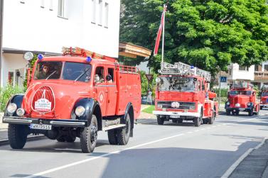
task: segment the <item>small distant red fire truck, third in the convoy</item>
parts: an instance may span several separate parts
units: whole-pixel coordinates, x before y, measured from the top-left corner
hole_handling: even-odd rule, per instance
[[[256,91],[248,82],[235,81],[228,92],[228,101],[225,103],[226,114],[238,115],[245,111],[249,116],[259,114],[259,102],[256,99]]]

